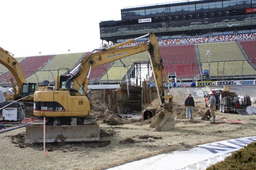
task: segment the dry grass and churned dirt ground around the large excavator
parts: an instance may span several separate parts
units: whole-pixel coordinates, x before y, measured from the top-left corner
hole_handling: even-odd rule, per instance
[[[96,95],[98,94],[98,95]],[[185,118],[183,89],[173,90],[174,129],[151,132],[145,129],[150,121],[122,119],[104,112],[99,91],[94,91],[94,114],[100,124],[99,142],[47,143],[48,157],[43,156],[43,144],[25,143],[26,129],[0,134],[1,169],[106,169],[116,165],[176,150],[188,150],[204,143],[232,138],[256,136],[256,115],[223,114],[216,111],[218,121],[242,120],[240,124],[210,124],[201,120],[203,98],[195,98],[195,120]],[[113,124],[114,125],[111,125]]]

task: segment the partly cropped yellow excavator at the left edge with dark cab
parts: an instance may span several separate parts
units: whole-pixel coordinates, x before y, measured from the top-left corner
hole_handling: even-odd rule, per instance
[[[33,94],[38,89],[38,84],[28,83],[23,75],[22,69],[20,68],[15,58],[12,56],[10,52],[4,50],[1,47],[0,47],[0,64],[4,65],[10,71],[10,73],[12,73],[18,86],[18,89],[16,89],[13,79],[11,78],[14,94],[5,94],[6,101],[18,100],[18,99],[24,98],[22,99],[23,101],[32,102]]]

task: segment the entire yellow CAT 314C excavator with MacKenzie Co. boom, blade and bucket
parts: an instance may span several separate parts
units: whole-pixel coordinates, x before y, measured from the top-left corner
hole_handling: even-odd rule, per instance
[[[149,36],[149,41],[137,46],[119,48],[135,40]],[[34,115],[38,120],[26,127],[26,142],[43,142],[43,117],[45,123],[45,142],[99,141],[99,124],[91,113],[91,104],[86,96],[89,76],[92,69],[132,54],[148,51],[152,66],[161,112],[150,125],[155,131],[170,130],[175,126],[171,113],[167,112],[165,99],[171,105],[172,96],[165,96],[162,73],[168,79],[159,53],[158,40],[153,33],[130,39],[112,47],[97,49],[84,57],[77,72],[73,75],[58,75],[54,90],[34,93]],[[168,87],[169,88],[169,87]],[[170,107],[169,107],[170,108]]]

